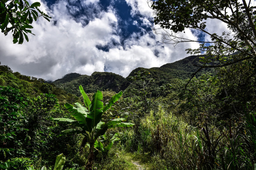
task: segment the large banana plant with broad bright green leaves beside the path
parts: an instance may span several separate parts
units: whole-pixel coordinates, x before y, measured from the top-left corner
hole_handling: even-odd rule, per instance
[[[84,98],[85,107],[78,102],[75,103],[75,106],[69,103],[64,105],[68,111],[72,113],[72,116],[76,120],[69,118],[54,118],[53,120],[56,122],[66,122],[77,127],[66,129],[62,131],[63,133],[79,133],[85,136],[83,142],[88,142],[90,146],[90,152],[87,156],[88,161],[86,164],[86,169],[92,170],[94,159],[93,150],[97,138],[101,135],[104,135],[109,128],[131,127],[134,124],[123,122],[126,121],[125,118],[116,118],[106,123],[101,122],[102,114],[104,114],[108,108],[110,108],[122,96],[122,91],[112,96],[108,104],[104,106],[103,102],[101,101],[103,99],[102,92],[97,90],[97,92],[92,96],[92,101],[90,101],[81,85],[79,86],[79,90]]]

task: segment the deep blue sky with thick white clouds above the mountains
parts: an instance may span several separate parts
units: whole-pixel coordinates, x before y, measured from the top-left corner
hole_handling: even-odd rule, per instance
[[[91,75],[113,72],[123,77],[137,68],[160,67],[189,56],[185,49],[162,43],[153,33],[153,11],[147,0],[30,0],[52,17],[33,22],[29,42],[12,43],[12,34],[0,34],[0,62],[23,75],[56,80],[72,72]],[[215,21],[209,22],[216,25]],[[222,32],[226,25],[209,27]],[[211,30],[209,30],[211,31]],[[186,37],[202,36],[186,29]],[[207,38],[207,37],[204,37]]]

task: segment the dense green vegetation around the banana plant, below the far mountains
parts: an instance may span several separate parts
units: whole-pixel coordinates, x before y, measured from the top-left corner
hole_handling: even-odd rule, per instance
[[[0,168],[53,168],[55,157],[63,153],[64,169],[84,169],[89,148],[94,148],[93,166],[98,169],[136,169],[132,160],[146,169],[253,169],[256,83],[252,61],[206,70],[192,78],[187,89],[182,77],[172,77],[173,72],[160,74],[162,69],[180,69],[184,76],[191,58],[194,56],[160,68],[133,71],[126,78],[129,86],[102,115],[102,122],[123,117],[135,125],[108,129],[89,147],[82,134],[63,133],[80,126],[53,122],[58,117],[71,121],[63,104],[83,103],[83,97],[0,65]],[[73,80],[79,77],[77,74]],[[113,95],[116,92],[103,91],[104,105]],[[94,98],[92,93],[89,98]]]

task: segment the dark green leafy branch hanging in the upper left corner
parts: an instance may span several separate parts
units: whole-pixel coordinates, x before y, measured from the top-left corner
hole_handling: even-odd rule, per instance
[[[27,0],[1,0],[0,2],[0,28],[1,31],[7,35],[12,30],[13,43],[22,44],[24,37],[28,42],[26,33],[31,32],[31,25],[37,18],[43,16],[50,21],[47,14],[42,12],[38,7],[41,4],[34,2],[29,4]],[[33,34],[34,35],[34,34]]]

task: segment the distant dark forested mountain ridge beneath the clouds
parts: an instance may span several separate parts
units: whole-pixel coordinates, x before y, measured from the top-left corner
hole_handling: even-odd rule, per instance
[[[126,78],[111,72],[94,72],[91,76],[69,73],[63,78],[55,80],[53,84],[77,96],[80,95],[79,85],[83,86],[86,93],[107,89],[119,92],[120,90],[125,90],[130,85],[129,77],[135,75],[135,72],[150,72],[151,77],[155,79],[155,84],[161,86],[165,83],[175,83],[178,80],[190,78],[191,74],[198,69],[194,64],[200,64],[198,55],[192,55],[173,63],[167,63],[161,67],[139,67],[134,69]],[[212,69],[202,69],[197,76],[206,72],[212,72]]]

